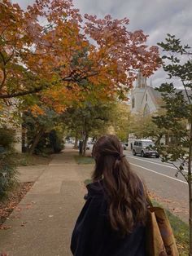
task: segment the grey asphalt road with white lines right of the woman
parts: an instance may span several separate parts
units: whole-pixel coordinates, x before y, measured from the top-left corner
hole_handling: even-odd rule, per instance
[[[124,151],[130,166],[135,170],[149,190],[155,193],[157,199],[174,214],[188,222],[188,185],[181,176],[175,177],[177,169],[160,159],[133,156],[132,152]],[[186,173],[186,170],[185,170]]]

